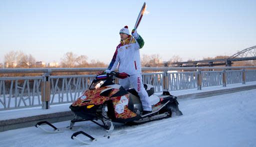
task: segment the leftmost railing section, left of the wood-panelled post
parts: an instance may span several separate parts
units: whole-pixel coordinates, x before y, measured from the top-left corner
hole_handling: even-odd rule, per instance
[[[0,110],[41,106],[42,78],[0,78]]]

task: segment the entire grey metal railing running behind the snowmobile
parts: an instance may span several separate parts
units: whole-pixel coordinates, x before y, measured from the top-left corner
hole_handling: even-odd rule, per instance
[[[203,87],[256,81],[256,70],[250,68],[256,69],[256,67],[142,68],[142,71],[150,72],[142,73],[142,81],[144,84],[153,85],[155,92],[196,88],[200,90]],[[0,69],[0,73],[44,73],[42,76],[36,77],[0,77],[0,110],[37,106],[48,109],[50,105],[72,103],[83,91],[88,89],[95,75],[51,76],[50,74],[54,72],[103,71],[104,69]],[[205,71],[209,69],[218,71]],[[191,71],[177,72],[184,70]]]

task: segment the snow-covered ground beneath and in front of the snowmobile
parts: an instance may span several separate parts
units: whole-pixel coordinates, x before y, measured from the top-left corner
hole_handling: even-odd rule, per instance
[[[93,145],[71,140],[72,131],[47,134],[29,127],[0,132],[0,147],[256,147],[255,94],[254,89],[179,100],[183,116],[137,126],[114,124],[115,131],[128,133]],[[68,123],[54,125],[64,127]],[[90,122],[76,125],[82,125],[79,130],[94,137],[104,134],[102,128]]]

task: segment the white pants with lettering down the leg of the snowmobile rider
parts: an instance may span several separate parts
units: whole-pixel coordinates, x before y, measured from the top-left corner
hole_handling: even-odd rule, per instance
[[[148,94],[146,93],[146,90],[142,83],[142,77],[141,74],[134,74],[130,75],[130,77],[127,77],[125,79],[119,79],[119,84],[125,89],[128,90],[130,87],[130,84],[132,87],[136,90],[138,93],[138,96],[140,98],[143,111],[152,111],[152,107],[148,98]]]

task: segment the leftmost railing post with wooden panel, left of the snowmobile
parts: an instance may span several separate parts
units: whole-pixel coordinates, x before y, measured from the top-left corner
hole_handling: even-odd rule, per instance
[[[43,74],[43,82],[41,83],[41,101],[42,101],[42,109],[49,109],[49,101],[50,101],[50,81],[49,81],[49,73]]]

